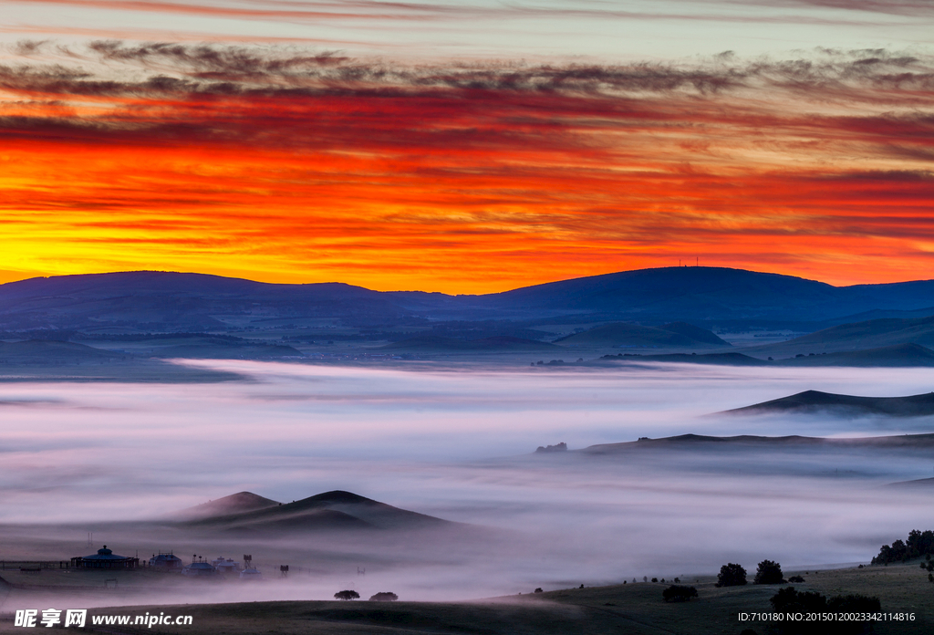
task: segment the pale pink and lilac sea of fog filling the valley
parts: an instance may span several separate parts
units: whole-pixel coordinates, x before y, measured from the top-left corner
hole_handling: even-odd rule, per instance
[[[934,489],[884,487],[934,476],[934,456],[923,451],[530,456],[539,445],[579,449],[688,432],[934,432],[927,417],[710,416],[806,389],[927,392],[930,369],[184,363],[249,379],[0,384],[6,550],[33,536],[50,552],[56,544],[74,551],[93,527],[95,543],[120,553],[237,555],[243,541],[198,543],[179,534],[166,544],[164,536],[107,523],[164,516],[242,490],[294,501],[344,489],[496,531],[479,542],[257,544],[259,553],[278,549],[277,559],[287,553],[293,567],[318,573],[256,587],[249,597],[325,599],[335,586],[356,585],[361,594],[452,600],[644,575],[689,578],[728,561],[751,571],[763,558],[786,569],[865,562],[910,529],[934,529]],[[75,555],[86,554],[48,559]],[[365,577],[358,568],[368,568]],[[204,599],[231,599],[218,593]]]

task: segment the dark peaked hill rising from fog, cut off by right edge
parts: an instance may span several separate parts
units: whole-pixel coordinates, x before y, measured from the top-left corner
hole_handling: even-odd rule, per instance
[[[832,413],[843,416],[930,416],[934,415],[934,392],[910,397],[856,397],[805,390],[789,397],[726,412],[732,415]]]

